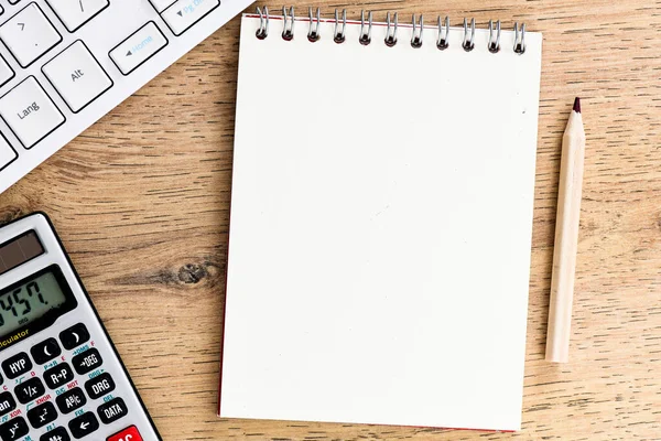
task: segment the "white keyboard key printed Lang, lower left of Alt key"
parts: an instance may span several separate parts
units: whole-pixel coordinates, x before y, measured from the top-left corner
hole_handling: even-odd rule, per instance
[[[33,76],[0,98],[0,116],[25,149],[34,147],[65,121]]]

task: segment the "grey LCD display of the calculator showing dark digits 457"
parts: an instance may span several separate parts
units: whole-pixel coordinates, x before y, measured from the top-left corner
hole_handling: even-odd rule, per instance
[[[0,293],[0,335],[7,335],[41,319],[66,303],[62,287],[52,271],[25,279]]]

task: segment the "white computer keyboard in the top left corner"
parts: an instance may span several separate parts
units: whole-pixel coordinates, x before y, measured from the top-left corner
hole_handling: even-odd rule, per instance
[[[0,0],[0,193],[253,0]]]

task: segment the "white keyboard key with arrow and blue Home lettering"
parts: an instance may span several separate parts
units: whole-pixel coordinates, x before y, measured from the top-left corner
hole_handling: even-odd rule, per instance
[[[167,45],[167,39],[153,21],[121,42],[108,54],[119,71],[128,75]]]

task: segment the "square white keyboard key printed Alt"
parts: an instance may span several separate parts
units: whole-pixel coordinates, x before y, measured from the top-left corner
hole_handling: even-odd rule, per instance
[[[110,77],[80,40],[46,63],[42,72],[74,114],[112,86]]]

